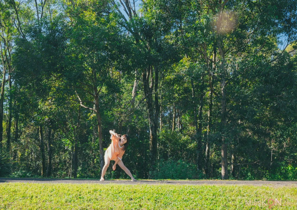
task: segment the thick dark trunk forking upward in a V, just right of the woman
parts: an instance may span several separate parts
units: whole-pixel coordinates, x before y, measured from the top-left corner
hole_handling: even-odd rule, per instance
[[[146,99],[146,107],[149,114],[149,128],[150,128],[150,152],[149,152],[149,163],[150,171],[149,177],[152,173],[154,163],[157,155],[157,128],[158,128],[158,118],[159,118],[159,100],[158,100],[158,68],[154,67],[155,78],[153,81],[153,67],[149,67],[146,71],[142,73],[143,80],[143,91]],[[150,77],[151,76],[151,77]],[[149,84],[149,79],[151,79],[151,84]],[[155,90],[155,113],[153,108],[152,100],[152,90]]]

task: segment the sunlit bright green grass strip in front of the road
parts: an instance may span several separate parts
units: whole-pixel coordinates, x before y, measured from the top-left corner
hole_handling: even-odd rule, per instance
[[[268,209],[245,204],[262,198],[282,199],[272,209],[297,209],[296,187],[0,184],[0,209]]]

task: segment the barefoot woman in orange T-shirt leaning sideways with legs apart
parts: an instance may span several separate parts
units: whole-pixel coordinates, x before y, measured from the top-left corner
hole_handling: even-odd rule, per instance
[[[132,181],[136,181],[136,179],[134,179],[131,172],[129,171],[128,168],[126,168],[126,166],[122,161],[123,154],[129,144],[129,136],[125,134],[120,137],[120,135],[118,135],[112,130],[110,130],[109,132],[111,134],[110,138],[112,142],[107,148],[107,150],[105,151],[105,156],[104,156],[105,165],[102,169],[102,175],[101,175],[100,181],[104,181],[104,174],[109,166],[110,160],[115,161],[112,167],[113,170],[116,170],[116,164],[118,164],[121,167],[121,169],[123,169],[131,177]]]

